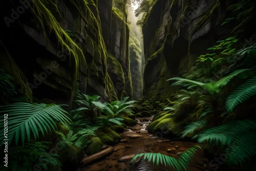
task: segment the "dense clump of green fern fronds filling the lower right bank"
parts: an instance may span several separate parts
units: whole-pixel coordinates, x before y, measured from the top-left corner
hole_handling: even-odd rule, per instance
[[[193,139],[200,143],[220,145],[225,149],[226,163],[243,165],[256,154],[256,120],[234,120],[226,124],[208,128],[205,120],[188,124],[182,137],[204,127],[204,131]],[[208,128],[208,129],[207,129]]]

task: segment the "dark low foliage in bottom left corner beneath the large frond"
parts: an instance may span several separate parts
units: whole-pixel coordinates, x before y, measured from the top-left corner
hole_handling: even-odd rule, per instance
[[[58,155],[47,153],[50,142],[25,143],[24,146],[11,147],[8,152],[9,164],[1,170],[33,170],[40,168],[43,170],[57,170],[61,163]],[[3,166],[3,165],[2,165]]]

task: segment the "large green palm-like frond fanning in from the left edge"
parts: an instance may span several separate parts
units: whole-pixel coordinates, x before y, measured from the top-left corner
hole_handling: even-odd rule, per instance
[[[48,130],[55,130],[55,121],[61,122],[66,127],[68,127],[67,123],[72,122],[70,115],[57,104],[18,102],[0,106],[0,111],[2,118],[5,113],[8,114],[9,144],[14,137],[16,144],[20,137],[24,144],[26,136],[28,141],[30,140],[31,131],[34,138],[39,138],[38,130],[42,135],[48,133]],[[4,128],[4,122],[0,125]],[[3,141],[4,130],[1,131],[0,141]]]

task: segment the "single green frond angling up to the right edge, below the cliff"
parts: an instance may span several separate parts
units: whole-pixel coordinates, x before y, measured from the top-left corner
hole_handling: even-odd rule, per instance
[[[241,104],[243,101],[248,100],[250,97],[256,94],[256,76],[248,79],[241,86],[236,88],[226,100],[227,112],[233,112],[234,108]]]

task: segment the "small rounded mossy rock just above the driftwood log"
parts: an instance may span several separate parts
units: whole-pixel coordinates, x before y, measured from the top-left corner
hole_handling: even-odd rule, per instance
[[[101,146],[103,145],[101,139],[99,137],[92,137],[90,139],[91,144],[86,147],[86,154],[93,155],[101,151]]]

